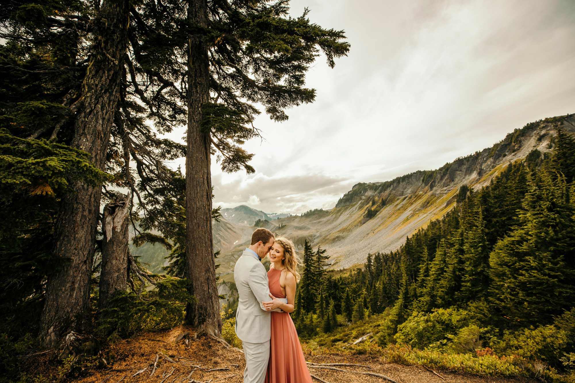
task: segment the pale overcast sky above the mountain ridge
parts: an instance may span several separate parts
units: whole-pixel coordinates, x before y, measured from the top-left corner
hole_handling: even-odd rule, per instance
[[[575,113],[575,1],[295,0],[351,49],[307,76],[313,104],[255,121],[256,173],[212,166],[214,204],[329,209],[357,182],[431,170],[540,118]]]

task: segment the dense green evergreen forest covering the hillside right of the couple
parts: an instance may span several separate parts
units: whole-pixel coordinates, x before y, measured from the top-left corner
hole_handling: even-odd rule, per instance
[[[368,206],[380,203],[373,198]],[[531,151],[481,189],[460,187],[455,208],[397,251],[370,254],[343,273],[326,271],[325,259],[325,250],[306,242],[293,314],[298,334],[318,350],[343,350],[369,333],[354,352],[454,369],[473,358],[446,355],[489,355],[499,373],[515,357],[535,376],[569,376],[575,140],[558,129],[551,152]],[[527,360],[536,362],[526,367]],[[462,370],[486,368],[476,367]]]

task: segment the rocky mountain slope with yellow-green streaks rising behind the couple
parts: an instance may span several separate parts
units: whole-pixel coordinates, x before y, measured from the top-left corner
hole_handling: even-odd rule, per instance
[[[549,152],[558,127],[575,133],[575,116],[531,122],[492,147],[446,163],[437,170],[416,171],[386,182],[358,183],[331,210],[269,220],[260,225],[292,238],[298,250],[305,240],[327,249],[331,268],[350,267],[364,262],[369,253],[396,250],[406,236],[443,216],[455,205],[459,187],[481,188],[505,166],[525,158],[531,151]],[[238,246],[220,256],[221,280],[233,280],[229,273],[246,240],[239,240]]]

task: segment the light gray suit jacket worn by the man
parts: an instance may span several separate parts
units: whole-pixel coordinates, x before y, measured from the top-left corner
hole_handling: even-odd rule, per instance
[[[233,268],[239,302],[236,312],[236,335],[243,342],[263,343],[271,338],[271,312],[262,302],[269,302],[270,288],[262,262],[244,251]],[[275,309],[274,311],[281,311]]]

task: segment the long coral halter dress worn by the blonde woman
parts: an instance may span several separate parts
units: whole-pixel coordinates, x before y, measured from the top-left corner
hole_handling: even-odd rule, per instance
[[[277,298],[286,297],[279,285],[281,273],[275,269],[267,272],[270,293]],[[312,383],[296,326],[286,312],[271,313],[270,361],[265,383]]]

